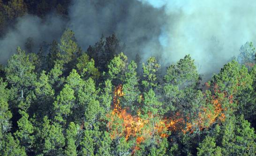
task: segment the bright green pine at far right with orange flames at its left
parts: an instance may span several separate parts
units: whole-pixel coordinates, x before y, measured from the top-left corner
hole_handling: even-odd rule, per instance
[[[213,76],[211,90],[216,96],[230,98],[233,101],[222,104],[226,111],[247,114],[247,107],[254,107],[254,104],[250,104],[253,102],[253,98],[250,97],[253,96],[252,83],[247,68],[233,60],[224,65],[219,74]],[[237,101],[240,103],[236,103]]]

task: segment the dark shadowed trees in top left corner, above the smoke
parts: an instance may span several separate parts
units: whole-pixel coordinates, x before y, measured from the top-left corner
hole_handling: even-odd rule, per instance
[[[6,34],[17,18],[26,14],[45,17],[53,10],[56,13],[67,15],[70,0],[0,0],[0,36]]]

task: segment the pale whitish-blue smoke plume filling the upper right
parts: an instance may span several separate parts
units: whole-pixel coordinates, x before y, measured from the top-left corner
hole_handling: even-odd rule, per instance
[[[255,0],[140,0],[164,8],[168,18],[159,37],[165,63],[190,54],[200,73],[218,72],[241,45],[256,43]]]

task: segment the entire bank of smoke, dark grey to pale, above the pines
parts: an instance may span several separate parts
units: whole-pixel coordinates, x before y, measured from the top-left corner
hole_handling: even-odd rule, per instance
[[[218,72],[241,45],[255,43],[254,0],[72,0],[68,20],[50,14],[45,20],[25,15],[0,40],[0,62],[17,46],[34,39],[34,52],[45,41],[59,39],[65,28],[75,32],[86,50],[103,34],[115,33],[125,54],[145,61],[156,56],[163,66],[190,54],[201,74]]]

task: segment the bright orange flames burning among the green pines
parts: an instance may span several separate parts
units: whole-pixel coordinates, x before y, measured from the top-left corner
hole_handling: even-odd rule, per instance
[[[111,120],[108,123],[111,129],[111,138],[124,136],[128,140],[131,137],[135,137],[137,144],[140,144],[152,135],[150,130],[143,128],[149,123],[149,119],[141,119],[138,115],[140,112],[132,116],[127,112],[127,109],[122,109],[120,107],[120,98],[123,96],[125,96],[125,93],[123,93],[122,85],[120,84],[114,89],[113,111],[111,112]],[[143,99],[142,95],[140,97]],[[231,103],[232,96],[229,99]],[[210,104],[214,107],[214,111],[203,108],[203,111],[198,114],[198,119],[193,122],[189,122],[189,118],[182,116],[181,112],[176,112],[172,117],[161,119],[155,126],[155,132],[161,137],[168,137],[167,131],[182,132],[184,134],[193,133],[196,127],[199,127],[199,130],[203,130],[204,128],[209,128],[216,119],[223,121],[225,115],[221,107],[221,99],[212,96]],[[117,119],[120,119],[120,122]]]

